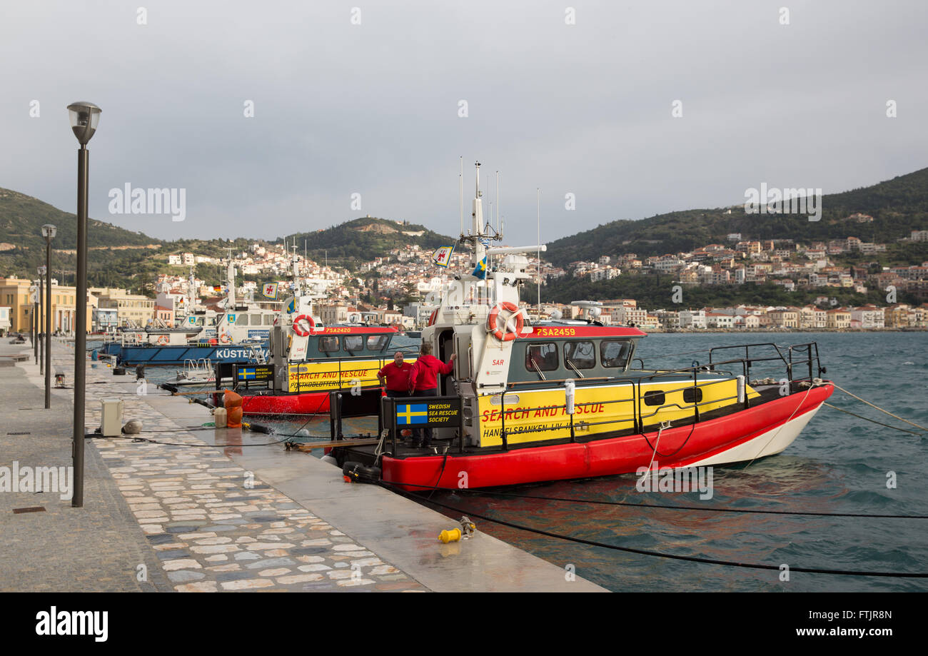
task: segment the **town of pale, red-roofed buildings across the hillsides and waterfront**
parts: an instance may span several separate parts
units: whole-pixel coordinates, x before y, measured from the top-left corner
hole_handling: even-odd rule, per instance
[[[872,217],[856,214],[858,223]],[[928,241],[928,230],[914,230],[903,241]],[[292,248],[292,247],[291,247]],[[529,257],[528,273],[547,286],[564,277],[588,277],[592,282],[624,275],[670,275],[679,289],[687,286],[747,285],[773,282],[784,289],[820,289],[815,302],[801,306],[739,304],[733,307],[686,307],[679,302],[666,308],[639,307],[635,299],[584,299],[602,302],[598,320],[603,324],[636,326],[643,330],[847,330],[928,328],[928,262],[908,266],[878,263],[836,264],[846,254],[870,255],[886,250],[885,244],[856,237],[800,244],[792,239],[751,240],[739,233],[728,235],[728,244],[706,244],[689,252],[667,253],[640,259],[635,253],[603,255],[596,262],[574,262],[567,270]],[[405,330],[423,328],[437,298],[454,272],[468,266],[468,256],[453,251],[447,266],[434,262],[434,253],[418,245],[406,245],[375,257],[349,271],[304,257],[285,245],[254,243],[248,251],[230,252],[238,277],[235,295],[251,307],[277,310],[293,284],[294,263],[302,283],[316,289],[320,302],[316,315],[323,324],[357,323],[386,325]],[[208,284],[193,275],[199,264],[226,265],[228,260],[192,252],[166,256],[165,269],[151,281],[154,296],[128,289],[90,288],[86,330],[111,332],[117,328],[174,327],[185,315],[225,307],[228,289]],[[443,263],[444,264],[444,263]],[[492,265],[492,264],[491,264]],[[186,267],[189,275],[180,273]],[[249,279],[250,278],[250,279]],[[268,288],[267,284],[271,287]],[[74,287],[51,277],[52,329],[65,334],[74,330]],[[36,281],[0,277],[0,331],[32,329]],[[267,293],[273,289],[274,293]],[[839,306],[830,289],[886,290],[885,304]],[[895,302],[896,293],[907,292],[917,303]],[[529,295],[531,297],[531,295]],[[580,300],[580,299],[577,299]],[[45,299],[43,299],[45,301]],[[530,315],[560,313],[574,318],[578,308],[563,303],[523,302]]]

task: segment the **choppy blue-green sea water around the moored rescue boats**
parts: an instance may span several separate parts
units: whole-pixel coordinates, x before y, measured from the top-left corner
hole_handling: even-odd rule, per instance
[[[414,343],[413,340],[407,340]],[[871,403],[928,427],[928,333],[651,334],[638,356],[646,367],[708,362],[715,346],[818,342],[823,376]],[[690,352],[698,353],[690,353]],[[672,355],[678,354],[678,355]],[[802,359],[803,356],[798,356]],[[170,369],[171,374],[175,368]],[[782,367],[756,366],[751,378],[779,379]],[[797,376],[803,374],[797,373]],[[153,367],[148,377],[157,379]],[[829,403],[883,423],[920,431],[835,391]],[[274,421],[284,434],[326,437],[328,416]],[[376,431],[365,422],[346,427]],[[348,432],[346,430],[346,432]],[[895,479],[895,486],[887,482]],[[697,510],[628,508],[589,501],[699,508],[760,508],[928,516],[928,434],[913,435],[823,406],[779,456],[750,465],[715,467],[713,498],[698,493],[641,493],[634,474],[523,485],[492,491],[420,495],[460,508],[438,508],[449,518],[480,514],[514,524],[651,552],[790,568],[863,572],[928,572],[928,520],[809,517]],[[502,494],[505,493],[505,494]],[[557,496],[571,501],[511,495]],[[473,519],[473,518],[471,518]],[[928,580],[762,571],[670,560],[591,547],[475,519],[492,534],[613,591],[928,591]],[[454,521],[449,519],[448,528]],[[476,539],[479,539],[476,538]],[[467,548],[467,543],[461,548]],[[513,572],[518,575],[518,572]]]

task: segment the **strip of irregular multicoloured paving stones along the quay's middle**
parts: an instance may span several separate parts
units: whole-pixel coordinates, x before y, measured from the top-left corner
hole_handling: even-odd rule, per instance
[[[87,426],[99,425],[100,399],[118,397],[125,418],[141,419],[144,437],[178,445],[108,438],[88,440],[87,450],[102,456],[175,590],[426,589],[115,378],[102,365],[88,369]]]

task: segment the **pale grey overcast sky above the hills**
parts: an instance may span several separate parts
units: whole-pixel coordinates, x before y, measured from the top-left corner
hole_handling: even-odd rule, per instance
[[[103,109],[90,215],[167,239],[367,213],[456,234],[459,156],[466,207],[479,160],[524,244],[536,187],[548,241],[928,165],[922,0],[137,2],[147,24],[135,3],[4,0],[0,187],[74,211],[75,100]],[[126,183],[186,189],[186,220],[110,213]]]

